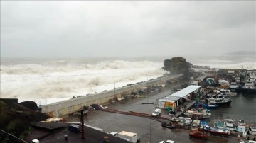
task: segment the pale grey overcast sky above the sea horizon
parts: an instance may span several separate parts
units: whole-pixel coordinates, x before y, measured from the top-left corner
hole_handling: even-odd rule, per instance
[[[255,1],[1,1],[1,57],[256,51]]]

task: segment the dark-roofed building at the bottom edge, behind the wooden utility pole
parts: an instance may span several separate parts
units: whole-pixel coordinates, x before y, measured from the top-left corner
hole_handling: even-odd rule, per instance
[[[34,122],[31,135],[26,137],[27,142],[90,142],[90,143],[130,143],[119,137],[113,137],[106,132],[95,130],[84,126],[84,136],[82,136],[81,126],[59,122]]]

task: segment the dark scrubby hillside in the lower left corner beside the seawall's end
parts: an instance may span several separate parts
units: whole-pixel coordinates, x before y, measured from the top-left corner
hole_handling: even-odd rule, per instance
[[[0,101],[0,113],[1,130],[20,138],[25,137],[32,131],[31,122],[48,118],[47,115],[38,111],[37,105],[33,101],[23,103]],[[0,140],[6,139],[9,139],[9,137],[6,135],[0,136]]]

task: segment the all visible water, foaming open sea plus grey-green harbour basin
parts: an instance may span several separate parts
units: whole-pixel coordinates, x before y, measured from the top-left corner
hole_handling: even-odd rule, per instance
[[[256,58],[247,56],[184,58],[191,64],[210,68],[255,69],[256,66]],[[86,96],[163,76],[166,73],[162,69],[164,59],[171,57],[1,58],[1,98],[45,105]],[[232,112],[230,108],[216,109],[213,116],[256,120],[256,95],[230,98],[233,99]]]

